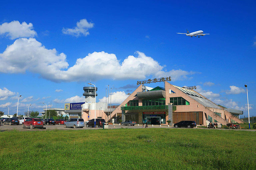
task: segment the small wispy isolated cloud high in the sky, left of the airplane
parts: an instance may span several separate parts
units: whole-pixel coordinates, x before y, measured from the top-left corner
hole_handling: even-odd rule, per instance
[[[62,33],[69,34],[75,37],[79,37],[81,35],[87,36],[89,35],[88,30],[90,28],[93,28],[93,26],[94,26],[93,23],[88,23],[86,19],[82,19],[76,23],[76,27],[74,28],[63,28]]]

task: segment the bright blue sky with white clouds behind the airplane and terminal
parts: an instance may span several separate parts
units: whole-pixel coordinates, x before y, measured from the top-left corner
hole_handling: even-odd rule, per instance
[[[255,1],[1,1],[0,110],[7,113],[9,106],[10,114],[16,113],[18,95],[19,114],[28,104],[41,112],[42,102],[63,108],[83,100],[90,80],[98,87],[97,101],[105,101],[110,85],[112,103],[119,104],[137,80],[171,76],[171,84],[196,85],[213,102],[245,116],[247,84],[250,115],[256,116],[255,6]],[[186,29],[210,35],[176,34]]]

